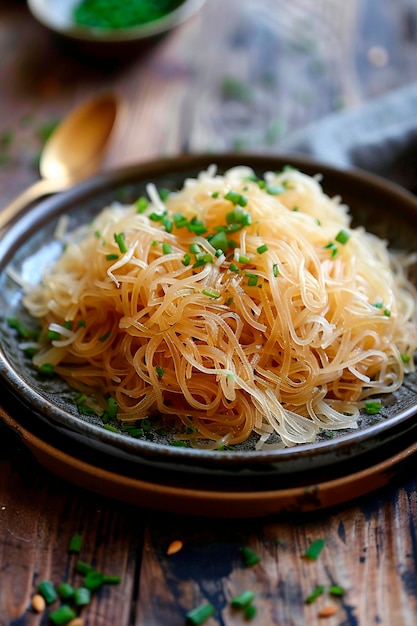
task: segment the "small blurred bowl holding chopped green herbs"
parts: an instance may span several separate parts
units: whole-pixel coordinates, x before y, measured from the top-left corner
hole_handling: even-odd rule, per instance
[[[80,0],[28,0],[33,17],[52,33],[76,43],[82,51],[113,56],[146,46],[166,35],[192,15],[205,0],[183,0],[180,5],[161,18],[128,28],[89,28],[77,25],[72,19]]]

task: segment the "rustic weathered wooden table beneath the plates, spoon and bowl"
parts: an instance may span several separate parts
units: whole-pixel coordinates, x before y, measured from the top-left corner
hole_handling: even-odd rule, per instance
[[[111,88],[125,102],[104,168],[180,152],[274,153],[281,137],[417,77],[413,0],[209,0],[146,53],[119,63],[62,47],[23,2],[0,5],[0,198],[36,180],[51,123]],[[252,589],[253,624],[417,624],[417,474],[382,492],[288,519],[158,513],[69,486],[0,424],[0,625],[46,624],[31,598],[42,579],[75,580],[80,558],[117,574],[83,612],[89,626],[179,626],[211,602],[207,626],[242,624],[230,599]],[[316,539],[316,561],[302,555]],[[181,540],[174,555],[167,548]],[[251,546],[257,565],[242,564]],[[329,585],[344,595],[330,597]],[[315,602],[306,597],[323,585]]]

